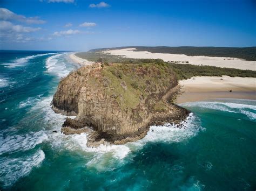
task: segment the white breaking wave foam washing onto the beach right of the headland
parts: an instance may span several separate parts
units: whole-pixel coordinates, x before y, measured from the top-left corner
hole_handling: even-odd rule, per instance
[[[187,102],[181,105],[185,107],[200,107],[213,110],[241,113],[246,115],[250,119],[256,119],[256,105],[228,102]],[[253,110],[253,112],[248,111],[248,109]]]

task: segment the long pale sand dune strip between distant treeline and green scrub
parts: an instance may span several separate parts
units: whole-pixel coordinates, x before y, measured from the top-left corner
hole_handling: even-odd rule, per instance
[[[134,51],[136,48],[123,48],[104,51],[106,54],[120,55],[126,58],[137,59],[163,59],[164,61],[188,61],[192,65],[208,65],[217,67],[256,70],[256,61],[246,61],[238,58],[212,57],[212,56],[187,56],[185,54],[163,54],[147,51]]]

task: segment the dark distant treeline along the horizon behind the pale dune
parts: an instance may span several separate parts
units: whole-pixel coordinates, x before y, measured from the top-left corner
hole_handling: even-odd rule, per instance
[[[103,51],[106,49],[120,49],[120,48],[136,48],[135,51],[148,51],[151,53],[170,53],[170,54],[185,54],[188,56],[217,56],[217,57],[232,57],[244,60],[256,60],[256,47],[194,47],[194,46],[126,46],[116,48],[102,48],[92,49],[92,52]]]

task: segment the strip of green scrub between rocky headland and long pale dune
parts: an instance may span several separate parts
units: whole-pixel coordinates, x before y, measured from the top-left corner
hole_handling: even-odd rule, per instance
[[[102,52],[81,52],[77,53],[77,56],[87,59],[89,61],[102,61],[103,63],[155,63],[157,65],[170,67],[177,75],[179,80],[190,79],[193,76],[239,76],[239,77],[256,77],[256,71],[253,70],[241,70],[235,68],[220,68],[215,66],[199,66],[191,65],[187,63],[174,63],[174,62],[164,62],[161,59],[131,59],[123,58],[121,56],[115,56],[110,54],[104,54]]]

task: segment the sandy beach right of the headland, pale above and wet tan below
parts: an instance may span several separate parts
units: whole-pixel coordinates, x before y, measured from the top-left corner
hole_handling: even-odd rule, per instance
[[[178,104],[216,98],[256,100],[256,79],[253,77],[197,76],[181,80],[179,84]]]

